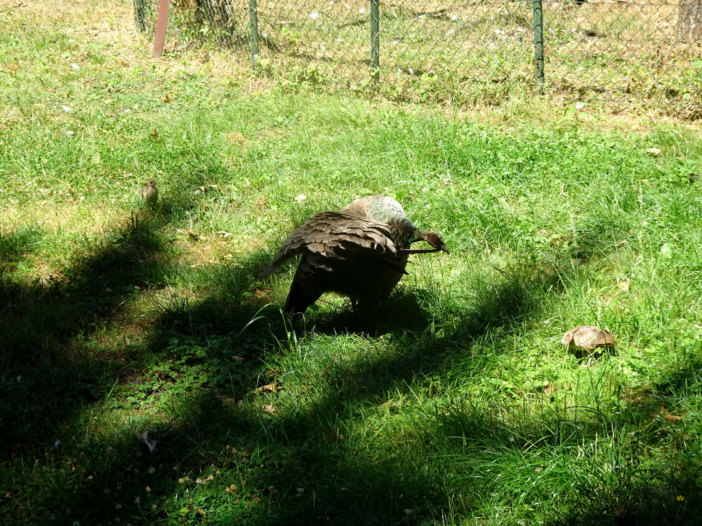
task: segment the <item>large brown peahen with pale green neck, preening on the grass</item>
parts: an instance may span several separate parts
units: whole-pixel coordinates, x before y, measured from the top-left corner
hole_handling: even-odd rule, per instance
[[[426,241],[431,249],[411,249]],[[410,254],[449,253],[441,236],[418,229],[402,205],[388,196],[362,197],[336,211],[312,216],[284,241],[264,271],[270,276],[300,256],[284,312],[299,318],[325,292],[351,300],[352,308],[369,312],[407,274]]]

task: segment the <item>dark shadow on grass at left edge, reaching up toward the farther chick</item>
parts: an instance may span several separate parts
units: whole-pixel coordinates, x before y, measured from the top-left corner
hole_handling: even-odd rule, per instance
[[[173,264],[168,253],[154,224],[133,216],[86,243],[60,277],[27,284],[2,275],[1,449],[53,443],[68,413],[114,384],[119,365],[91,351],[91,334],[120,318],[139,288],[164,283]]]

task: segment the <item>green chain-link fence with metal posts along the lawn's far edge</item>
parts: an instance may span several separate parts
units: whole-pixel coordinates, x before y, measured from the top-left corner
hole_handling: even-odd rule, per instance
[[[152,32],[157,5],[134,1]],[[167,46],[216,42],[351,88],[702,104],[702,0],[687,1],[177,0]]]

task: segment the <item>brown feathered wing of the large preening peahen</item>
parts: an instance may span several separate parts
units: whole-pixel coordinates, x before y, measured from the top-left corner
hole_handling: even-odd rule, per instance
[[[383,222],[341,212],[322,212],[290,234],[264,275],[269,276],[288,259],[303,252],[340,259],[366,251],[379,257],[396,256],[391,236]]]

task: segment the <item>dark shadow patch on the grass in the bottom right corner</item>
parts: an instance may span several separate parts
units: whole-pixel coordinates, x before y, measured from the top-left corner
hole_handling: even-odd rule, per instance
[[[621,441],[628,457],[610,464],[595,476],[583,478],[581,499],[552,525],[692,525],[702,513],[702,446],[691,440],[699,431],[686,418],[702,388],[702,360],[681,358],[680,369],[662,372],[646,389],[626,393],[628,404],[611,422],[612,429],[635,433]],[[642,425],[644,424],[644,425]],[[631,437],[631,438],[630,438]],[[651,443],[660,445],[654,457]],[[654,458],[651,458],[654,457]],[[616,476],[613,476],[616,474]]]

